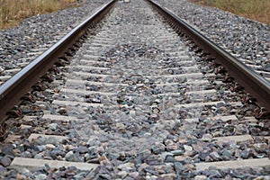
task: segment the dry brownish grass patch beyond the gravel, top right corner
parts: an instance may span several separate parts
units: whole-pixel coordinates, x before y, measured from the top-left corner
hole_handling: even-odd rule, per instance
[[[270,25],[270,0],[190,0]]]

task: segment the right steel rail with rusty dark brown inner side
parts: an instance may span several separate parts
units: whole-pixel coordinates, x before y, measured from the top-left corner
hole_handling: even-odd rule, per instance
[[[204,49],[211,53],[223,67],[227,69],[229,75],[235,78],[239,85],[245,87],[245,91],[257,99],[257,103],[261,107],[265,107],[270,111],[270,83],[263,76],[260,76],[250,67],[234,58],[224,49],[196,31],[191,25],[185,23],[181,18],[173,14],[168,9],[162,7],[160,4],[152,0],[148,0],[160,14],[163,14],[166,19],[174,24],[179,31],[183,31],[189,38]]]

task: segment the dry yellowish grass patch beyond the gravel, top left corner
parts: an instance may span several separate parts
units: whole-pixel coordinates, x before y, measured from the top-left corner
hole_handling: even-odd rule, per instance
[[[37,14],[49,14],[73,6],[76,0],[0,0],[0,30],[17,26]]]

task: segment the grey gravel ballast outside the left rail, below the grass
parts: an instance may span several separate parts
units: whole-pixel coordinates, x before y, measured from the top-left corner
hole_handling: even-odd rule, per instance
[[[86,0],[77,8],[36,15],[18,27],[0,31],[0,77],[12,76],[10,69],[25,67],[105,2]]]

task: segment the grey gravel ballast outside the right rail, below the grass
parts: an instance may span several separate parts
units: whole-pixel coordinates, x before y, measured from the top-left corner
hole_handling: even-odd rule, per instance
[[[186,0],[157,0],[229,53],[270,72],[270,26]],[[258,66],[258,67],[257,67]]]

